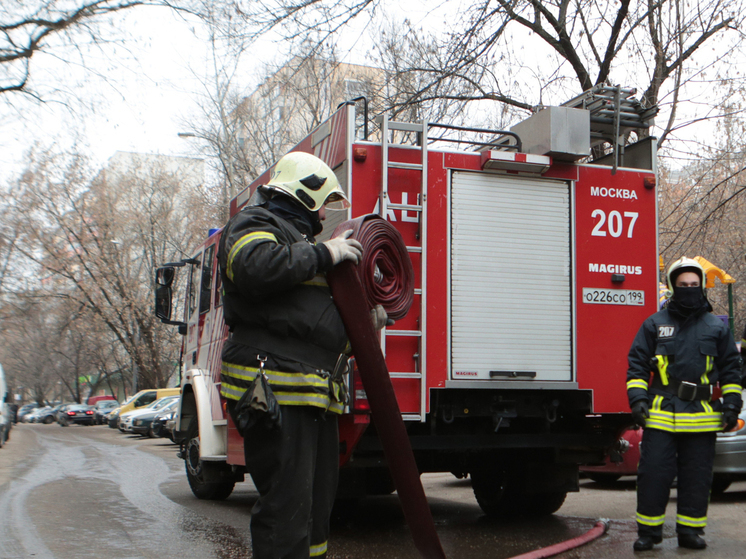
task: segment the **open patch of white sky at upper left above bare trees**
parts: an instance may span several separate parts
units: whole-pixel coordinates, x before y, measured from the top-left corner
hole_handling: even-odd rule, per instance
[[[45,95],[48,101],[43,104],[12,100],[14,110],[4,114],[0,124],[3,171],[17,168],[34,141],[75,141],[100,163],[116,151],[188,151],[177,133],[182,119],[196,110],[204,41],[188,22],[167,10],[132,12],[117,25],[129,30],[131,40],[126,47],[107,48],[104,53],[91,50],[86,55],[88,69],[51,56],[33,61],[32,76],[39,82],[64,80],[68,85],[63,93]],[[107,60],[106,53],[117,61]],[[57,99],[75,103],[65,106]]]

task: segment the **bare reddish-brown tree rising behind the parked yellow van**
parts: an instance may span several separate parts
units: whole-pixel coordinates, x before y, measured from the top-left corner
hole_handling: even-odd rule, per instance
[[[174,161],[159,167],[160,161],[129,156],[94,177],[80,158],[39,154],[15,185],[8,214],[38,296],[67,301],[106,328],[129,355],[141,387],[164,386],[178,352],[175,332],[153,316],[153,270],[189,254],[209,225],[191,195],[198,185],[183,173],[192,162],[177,161],[180,174]]]

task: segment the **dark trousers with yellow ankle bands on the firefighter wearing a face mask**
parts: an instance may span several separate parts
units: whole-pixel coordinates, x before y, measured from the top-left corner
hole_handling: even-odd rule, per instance
[[[637,468],[637,533],[660,537],[671,484],[676,484],[676,532],[701,534],[707,525],[716,433],[645,429]]]

